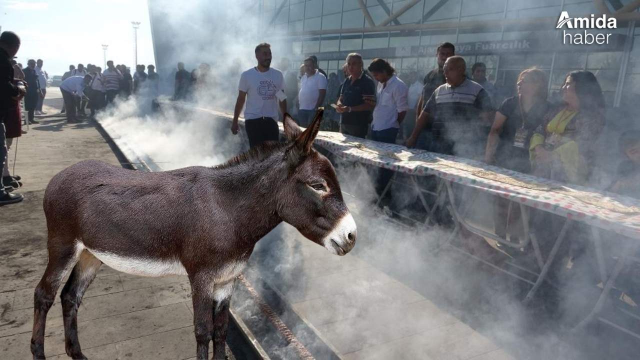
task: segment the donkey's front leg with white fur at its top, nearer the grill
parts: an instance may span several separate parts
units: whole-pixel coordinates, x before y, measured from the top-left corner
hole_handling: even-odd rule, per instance
[[[235,280],[214,287],[213,309],[213,357],[215,360],[225,360],[227,345],[227,329],[229,325],[229,304],[234,292]]]

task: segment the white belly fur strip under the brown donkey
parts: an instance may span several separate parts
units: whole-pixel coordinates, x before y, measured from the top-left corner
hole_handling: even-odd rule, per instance
[[[126,274],[140,276],[165,276],[165,275],[187,275],[182,263],[175,259],[173,261],[158,259],[131,258],[112,254],[110,252],[102,252],[86,248],[102,263]]]

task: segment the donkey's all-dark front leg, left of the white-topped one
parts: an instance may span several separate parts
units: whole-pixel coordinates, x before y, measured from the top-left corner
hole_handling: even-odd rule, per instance
[[[196,359],[207,359],[213,333],[213,281],[205,278],[191,279],[193,297],[193,325],[196,335]]]

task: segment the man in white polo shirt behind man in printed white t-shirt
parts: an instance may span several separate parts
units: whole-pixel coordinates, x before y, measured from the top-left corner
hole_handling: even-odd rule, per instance
[[[313,120],[318,106],[324,101],[326,95],[326,77],[316,69],[312,58],[305,59],[305,74],[300,83],[300,93],[298,93],[298,124],[308,127]]]

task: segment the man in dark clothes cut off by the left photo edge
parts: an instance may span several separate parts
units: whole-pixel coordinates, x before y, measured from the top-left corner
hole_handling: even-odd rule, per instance
[[[4,117],[7,117],[12,106],[13,97],[26,94],[24,86],[13,84],[13,65],[11,60],[20,49],[20,38],[12,31],[4,31],[0,35],[0,168],[7,161],[6,142],[4,138]],[[22,201],[17,193],[7,193],[0,177],[0,206]]]

